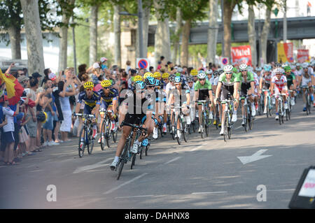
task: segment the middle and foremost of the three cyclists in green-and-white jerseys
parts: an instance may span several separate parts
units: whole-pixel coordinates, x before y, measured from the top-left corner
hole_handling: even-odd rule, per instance
[[[234,107],[234,112],[232,115],[232,122],[237,121],[237,107],[239,106],[237,101],[239,98],[239,75],[236,73],[232,72],[233,66],[232,65],[226,65],[223,68],[223,73],[221,73],[219,80],[218,80],[218,86],[216,87],[216,99],[214,99],[214,104],[216,105],[218,101],[219,94],[221,92],[221,87],[222,87],[222,92],[221,92],[221,101],[222,101],[222,109],[225,110],[225,103],[224,100],[228,99],[228,92],[233,96],[235,99],[235,107]],[[219,71],[221,72],[221,71]],[[220,135],[223,136],[224,134],[224,122],[225,122],[225,116],[224,113],[222,113],[221,116],[221,131]]]

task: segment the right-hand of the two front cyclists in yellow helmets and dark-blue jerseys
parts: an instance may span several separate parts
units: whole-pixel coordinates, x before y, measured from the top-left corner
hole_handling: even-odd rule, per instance
[[[117,89],[113,88],[113,85],[111,84],[110,80],[103,80],[101,82],[101,86],[103,89],[99,89],[97,93],[101,96],[101,106],[100,108],[103,110],[111,110],[112,113],[109,113],[110,119],[113,121],[113,126],[111,127],[111,130],[116,130],[116,123],[118,122],[118,96],[119,93]],[[113,115],[112,115],[113,114]],[[102,119],[104,118],[104,115],[101,115]],[[115,120],[114,120],[115,119]],[[99,123],[99,129],[101,129],[102,122]],[[104,140],[104,139],[103,139]],[[101,143],[101,138],[99,138],[98,143]]]

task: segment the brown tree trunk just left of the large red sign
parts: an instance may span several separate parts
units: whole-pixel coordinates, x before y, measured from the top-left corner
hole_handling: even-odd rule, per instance
[[[222,0],[223,1],[223,16],[224,16],[224,57],[231,58],[231,22],[232,13],[235,8],[235,1]]]

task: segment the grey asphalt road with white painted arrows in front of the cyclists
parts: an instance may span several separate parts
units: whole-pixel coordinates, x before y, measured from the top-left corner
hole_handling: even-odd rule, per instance
[[[298,100],[281,126],[274,115],[258,116],[245,132],[238,120],[227,143],[214,128],[182,145],[154,141],[120,180],[109,168],[116,145],[79,158],[72,138],[0,166],[0,208],[288,208],[304,168],[315,164],[315,109],[307,116]]]

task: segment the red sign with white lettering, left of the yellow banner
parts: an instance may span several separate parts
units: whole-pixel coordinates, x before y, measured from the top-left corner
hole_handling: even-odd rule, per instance
[[[251,46],[240,45],[231,48],[232,63],[247,64],[251,66]]]

